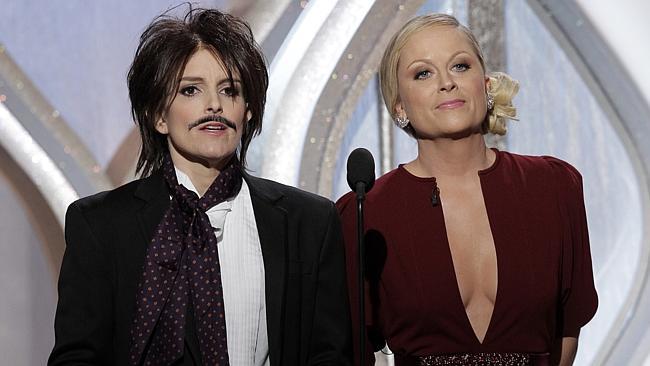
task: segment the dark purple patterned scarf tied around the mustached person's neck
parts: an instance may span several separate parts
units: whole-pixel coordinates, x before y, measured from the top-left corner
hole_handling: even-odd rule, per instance
[[[172,199],[147,248],[131,327],[131,364],[176,362],[183,355],[190,307],[203,363],[228,365],[221,266],[206,211],[239,192],[239,162],[233,157],[201,198],[178,184],[169,155],[162,169]]]

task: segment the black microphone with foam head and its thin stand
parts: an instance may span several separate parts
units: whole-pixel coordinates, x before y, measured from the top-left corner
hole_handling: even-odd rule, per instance
[[[348,157],[348,184],[357,193],[357,293],[359,296],[359,365],[366,364],[366,312],[365,312],[365,257],[366,249],[363,230],[363,201],[375,184],[375,159],[364,148],[354,149]]]

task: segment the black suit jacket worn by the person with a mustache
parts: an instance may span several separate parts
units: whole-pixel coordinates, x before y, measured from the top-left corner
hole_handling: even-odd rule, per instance
[[[247,174],[244,179],[264,259],[271,365],[350,364],[345,259],[332,202]],[[128,364],[146,248],[168,205],[159,173],[70,205],[49,365]],[[200,364],[198,349],[196,339],[186,337],[183,364]]]

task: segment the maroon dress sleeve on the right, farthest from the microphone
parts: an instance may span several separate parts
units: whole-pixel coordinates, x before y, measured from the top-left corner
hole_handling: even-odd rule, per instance
[[[582,176],[570,164],[548,158],[553,168],[562,220],[562,273],[558,331],[562,337],[578,337],[580,328],[596,313],[598,295],[589,249]]]

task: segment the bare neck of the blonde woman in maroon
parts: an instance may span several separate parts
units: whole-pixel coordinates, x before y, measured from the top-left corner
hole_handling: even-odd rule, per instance
[[[481,134],[461,139],[421,139],[417,158],[406,168],[422,177],[462,177],[487,169],[495,159],[496,154],[487,148]]]

